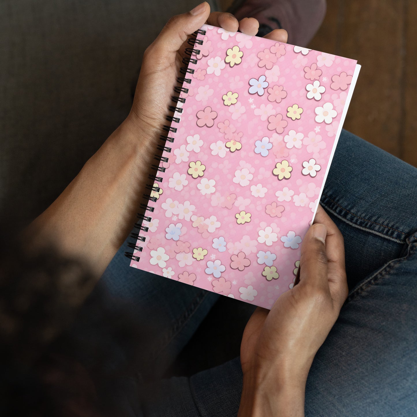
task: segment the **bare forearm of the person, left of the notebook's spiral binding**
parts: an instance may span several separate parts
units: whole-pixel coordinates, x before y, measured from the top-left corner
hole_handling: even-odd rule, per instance
[[[146,130],[149,132],[149,129]],[[101,276],[132,228],[155,139],[125,121],[27,230],[32,247],[52,244]]]

